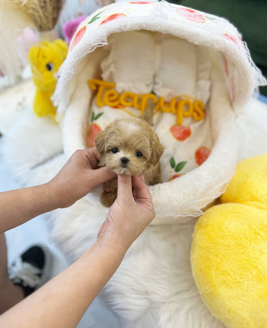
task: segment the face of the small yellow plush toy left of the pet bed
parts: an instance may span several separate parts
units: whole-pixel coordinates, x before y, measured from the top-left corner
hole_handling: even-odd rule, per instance
[[[29,51],[29,61],[36,87],[44,92],[54,92],[58,70],[65,60],[68,46],[63,40],[42,42]]]

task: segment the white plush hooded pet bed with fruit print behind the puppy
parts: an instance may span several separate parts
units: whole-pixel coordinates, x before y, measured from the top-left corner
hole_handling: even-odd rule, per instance
[[[175,114],[158,112],[154,116],[155,130],[166,147],[161,159],[164,183],[149,187],[157,214],[152,224],[199,216],[234,173],[234,115],[254,88],[264,84],[237,30],[224,19],[166,2],[117,3],[87,18],[72,40],[54,96],[59,118],[64,118],[67,156],[88,147],[86,133],[93,111],[94,115],[109,113],[105,120],[105,115],[99,119],[101,128],[125,115],[122,110],[96,105],[95,93],[88,86],[95,78],[115,82],[120,93],[153,91],[166,101],[185,94],[205,105],[203,122],[183,119],[184,126],[196,130],[184,141],[173,142],[166,133],[166,126],[169,130],[175,124]],[[193,143],[211,149],[200,166],[190,153]],[[176,165],[184,156],[187,165],[179,173],[186,174],[167,182],[175,174],[170,159],[173,157]]]

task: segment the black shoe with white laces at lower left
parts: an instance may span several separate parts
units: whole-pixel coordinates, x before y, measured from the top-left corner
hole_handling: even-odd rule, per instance
[[[51,254],[45,246],[32,246],[8,267],[10,279],[23,288],[25,297],[48,281]]]

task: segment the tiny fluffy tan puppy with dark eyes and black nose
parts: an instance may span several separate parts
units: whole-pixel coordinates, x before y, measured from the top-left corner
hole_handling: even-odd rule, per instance
[[[117,119],[97,135],[95,145],[100,154],[99,166],[107,166],[117,174],[144,173],[148,185],[161,182],[159,160],[164,148],[146,121]],[[113,204],[117,189],[117,178],[106,182],[100,199],[104,206]]]

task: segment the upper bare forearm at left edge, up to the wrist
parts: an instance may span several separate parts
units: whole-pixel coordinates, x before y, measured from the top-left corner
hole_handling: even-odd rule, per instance
[[[50,183],[0,194],[0,233],[60,206]]]

